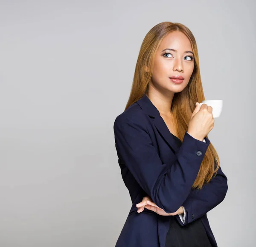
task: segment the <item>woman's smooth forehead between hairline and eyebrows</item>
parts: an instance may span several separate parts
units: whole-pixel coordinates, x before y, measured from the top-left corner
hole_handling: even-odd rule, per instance
[[[172,48],[178,52],[192,51],[192,46],[188,37],[180,31],[173,31],[163,38],[158,51],[162,51],[165,48]]]

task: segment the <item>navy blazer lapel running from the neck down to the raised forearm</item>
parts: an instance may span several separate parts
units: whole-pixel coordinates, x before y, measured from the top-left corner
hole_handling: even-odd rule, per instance
[[[137,100],[137,103],[140,105],[140,108],[148,114],[148,116],[153,117],[153,123],[160,135],[166,140],[169,147],[177,153],[180,147],[177,145],[177,141],[174,139],[172,133],[169,131],[166,123],[161,117],[160,112],[151,100],[146,96],[146,94],[144,94],[141,99]]]

